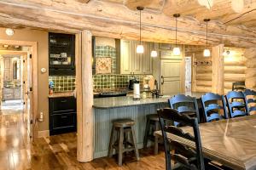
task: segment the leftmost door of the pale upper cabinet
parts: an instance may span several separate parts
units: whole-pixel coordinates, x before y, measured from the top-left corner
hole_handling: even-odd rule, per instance
[[[132,62],[131,41],[121,40],[121,74],[131,74]]]

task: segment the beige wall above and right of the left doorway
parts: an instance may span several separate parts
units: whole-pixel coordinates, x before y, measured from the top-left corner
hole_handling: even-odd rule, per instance
[[[0,28],[0,39],[38,42],[38,113],[44,112],[44,122],[38,122],[38,130],[48,130],[48,32],[15,30],[15,35],[9,37],[5,34],[5,28]],[[40,71],[43,67],[47,69],[44,74]]]

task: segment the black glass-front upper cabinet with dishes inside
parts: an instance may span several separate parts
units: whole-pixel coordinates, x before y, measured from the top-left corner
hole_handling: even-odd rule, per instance
[[[49,32],[49,75],[75,75],[75,36]]]

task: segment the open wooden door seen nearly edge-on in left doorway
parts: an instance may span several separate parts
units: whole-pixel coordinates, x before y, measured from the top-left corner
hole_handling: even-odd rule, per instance
[[[30,54],[24,58],[24,112],[27,117],[27,133],[32,138],[32,59]]]

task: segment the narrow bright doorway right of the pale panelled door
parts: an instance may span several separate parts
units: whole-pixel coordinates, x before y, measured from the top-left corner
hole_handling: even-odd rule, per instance
[[[192,57],[185,57],[185,90],[191,92]]]

